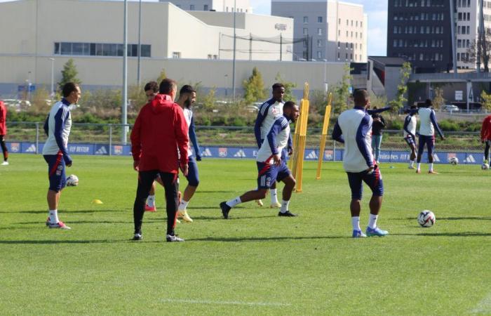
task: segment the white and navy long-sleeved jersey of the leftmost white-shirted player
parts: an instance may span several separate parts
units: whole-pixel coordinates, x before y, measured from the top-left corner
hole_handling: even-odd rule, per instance
[[[58,101],[51,107],[48,117],[47,126],[48,139],[44,143],[43,154],[58,154],[66,150],[68,145],[68,136],[72,129],[72,115],[69,111],[69,105]],[[61,136],[63,148],[58,146],[57,137]]]

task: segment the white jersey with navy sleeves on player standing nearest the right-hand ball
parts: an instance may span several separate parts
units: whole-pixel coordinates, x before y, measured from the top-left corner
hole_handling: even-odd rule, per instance
[[[346,110],[337,118],[344,137],[345,171],[358,173],[373,165],[372,123],[372,116],[357,108]]]

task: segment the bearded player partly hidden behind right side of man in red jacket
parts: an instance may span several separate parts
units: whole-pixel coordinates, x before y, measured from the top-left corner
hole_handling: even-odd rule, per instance
[[[184,85],[179,91],[179,99],[177,100],[177,104],[182,107],[182,111],[184,112],[184,118],[186,119],[188,128],[188,136],[191,143],[193,143],[194,152],[196,154],[196,160],[193,157],[193,152],[191,151],[191,147],[188,150],[188,173],[187,173],[187,187],[184,190],[184,195],[182,196],[182,200],[177,209],[177,217],[182,218],[184,221],[191,223],[193,220],[189,217],[187,213],[187,205],[191,198],[196,192],[196,188],[199,185],[199,173],[198,173],[198,164],[196,161],[201,162],[201,150],[198,145],[198,138],[196,138],[196,130],[194,127],[194,117],[193,112],[191,111],[191,106],[196,102],[196,91],[194,91],[192,86]]]

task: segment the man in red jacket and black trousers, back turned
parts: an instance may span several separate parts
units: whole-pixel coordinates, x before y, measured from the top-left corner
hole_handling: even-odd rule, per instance
[[[133,168],[138,171],[138,187],[133,206],[135,220],[133,240],[142,239],[145,201],[152,183],[159,174],[166,191],[166,240],[184,242],[184,239],[175,235],[174,228],[179,189],[177,174],[180,168],[184,176],[187,176],[189,138],[182,108],[174,103],[176,92],[175,81],[163,79],[159,86],[159,94],[142,107],[131,131]],[[177,150],[180,152],[180,157]]]

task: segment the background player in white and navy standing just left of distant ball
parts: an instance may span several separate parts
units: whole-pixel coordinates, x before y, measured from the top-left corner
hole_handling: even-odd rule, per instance
[[[417,169],[416,173],[421,173],[421,157],[424,152],[424,145],[428,150],[428,162],[429,162],[429,174],[438,174],[433,170],[433,149],[435,147],[435,129],[438,131],[438,135],[442,140],[445,140],[440,126],[436,122],[435,111],[431,109],[433,103],[427,99],[424,105],[418,110],[412,110],[411,112],[417,112],[419,114],[419,143],[417,150]]]

